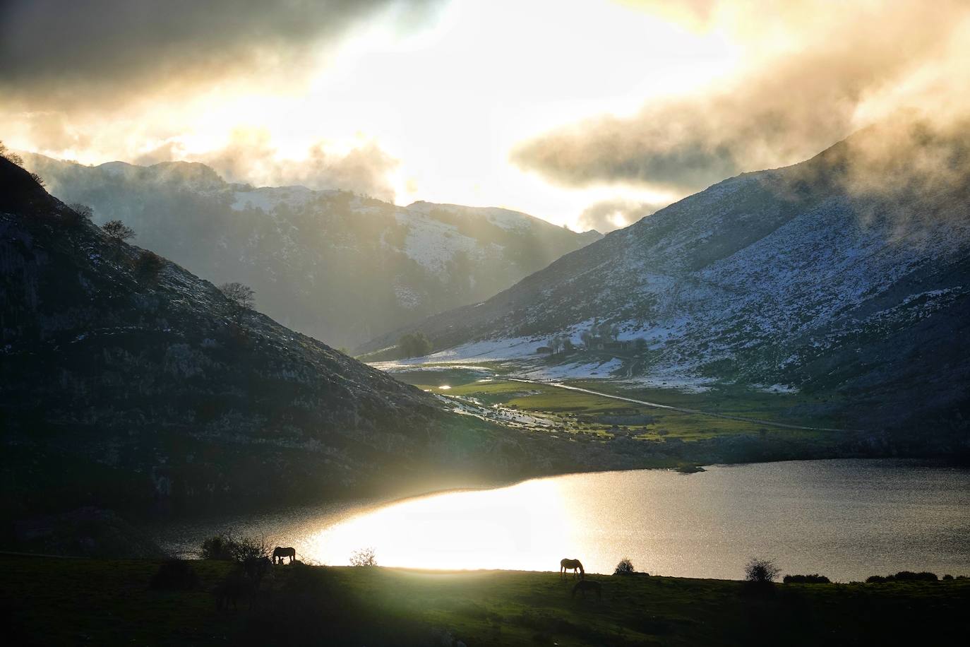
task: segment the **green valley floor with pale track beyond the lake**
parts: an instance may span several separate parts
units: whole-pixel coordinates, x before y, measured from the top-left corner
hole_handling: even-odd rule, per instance
[[[611,455],[635,457],[632,467],[892,455],[880,435],[852,428],[849,403],[836,396],[724,384],[684,390],[609,378],[536,381],[501,362],[380,368],[459,412],[603,445]]]

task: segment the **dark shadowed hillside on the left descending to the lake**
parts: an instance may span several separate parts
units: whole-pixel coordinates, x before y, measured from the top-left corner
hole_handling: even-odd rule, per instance
[[[322,501],[566,469],[113,242],[3,158],[0,414],[11,514]]]

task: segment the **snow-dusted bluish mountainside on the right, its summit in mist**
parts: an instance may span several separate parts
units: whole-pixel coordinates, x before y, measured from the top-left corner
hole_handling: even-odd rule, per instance
[[[461,355],[472,341],[581,344],[598,319],[646,342],[617,374],[834,390],[868,425],[965,420],[968,150],[965,135],[920,124],[860,131],[801,164],[729,178],[414,328]]]

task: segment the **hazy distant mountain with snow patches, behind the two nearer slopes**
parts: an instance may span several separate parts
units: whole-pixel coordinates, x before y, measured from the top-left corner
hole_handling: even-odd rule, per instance
[[[140,245],[193,273],[250,285],[261,310],[335,346],[491,297],[601,238],[516,211],[230,184],[197,163],[23,157],[51,194],[90,206],[96,223],[120,219]]]

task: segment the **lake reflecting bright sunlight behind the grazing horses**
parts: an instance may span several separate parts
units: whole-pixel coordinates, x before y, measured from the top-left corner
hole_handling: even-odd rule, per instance
[[[713,466],[570,474],[493,490],[386,504],[301,508],[170,524],[185,554],[227,527],[347,564],[372,547],[381,566],[556,570],[564,557],[611,573],[741,579],[751,557],[837,581],[897,570],[970,575],[970,470],[904,460]]]

